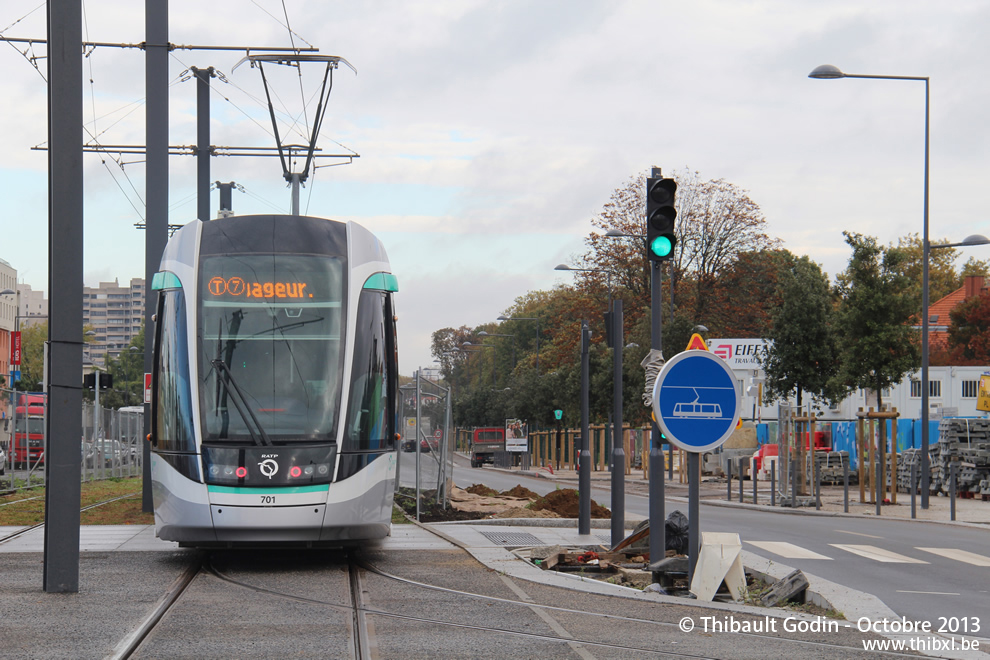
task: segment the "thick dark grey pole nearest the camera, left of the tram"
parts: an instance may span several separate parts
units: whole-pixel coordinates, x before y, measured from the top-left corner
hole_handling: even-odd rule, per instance
[[[82,3],[48,2],[48,448],[43,588],[79,591],[82,439]]]

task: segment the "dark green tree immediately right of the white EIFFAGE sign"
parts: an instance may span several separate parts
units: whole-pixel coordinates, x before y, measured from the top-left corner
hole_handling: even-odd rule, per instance
[[[767,403],[786,401],[794,392],[798,407],[802,392],[818,401],[842,399],[835,391],[839,347],[833,317],[828,277],[808,257],[792,257],[781,277],[780,304],[773,311],[770,345],[761,360]]]

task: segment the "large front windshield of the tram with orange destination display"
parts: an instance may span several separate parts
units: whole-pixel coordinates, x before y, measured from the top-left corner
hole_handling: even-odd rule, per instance
[[[200,406],[206,442],[335,437],[343,370],[343,264],[249,254],[200,264]]]

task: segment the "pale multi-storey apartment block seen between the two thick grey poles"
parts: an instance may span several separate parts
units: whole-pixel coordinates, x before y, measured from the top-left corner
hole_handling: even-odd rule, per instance
[[[132,278],[122,286],[118,280],[83,287],[83,364],[106,366],[108,358],[126,351],[141,332],[144,318],[144,278]]]

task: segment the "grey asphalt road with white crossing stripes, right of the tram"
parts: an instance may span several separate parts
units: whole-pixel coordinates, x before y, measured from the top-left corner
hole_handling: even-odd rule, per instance
[[[462,488],[484,483],[506,490],[522,484],[545,494],[557,487],[549,479],[472,469],[459,457],[455,463],[454,482]],[[607,506],[611,495],[593,486],[592,498]],[[668,499],[667,513],[674,509],[687,513],[687,502]],[[627,486],[626,511],[648,517],[648,497]],[[990,535],[986,529],[702,506],[701,530],[736,532],[746,550],[871,593],[908,619],[930,621],[937,627],[945,618],[947,625],[960,627],[958,632],[990,638],[986,614],[990,612]]]

